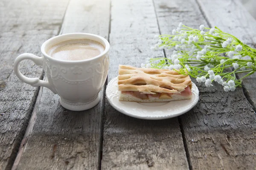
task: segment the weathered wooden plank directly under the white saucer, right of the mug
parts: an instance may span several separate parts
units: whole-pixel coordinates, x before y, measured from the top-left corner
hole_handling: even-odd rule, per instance
[[[146,57],[164,56],[151,51],[159,34],[151,0],[111,2],[111,68],[108,81],[118,75],[118,65],[140,67]],[[188,169],[177,118],[142,120],[119,113],[106,102],[102,169]]]

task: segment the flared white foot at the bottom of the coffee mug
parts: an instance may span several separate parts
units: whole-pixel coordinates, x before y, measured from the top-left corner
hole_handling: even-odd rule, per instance
[[[86,103],[71,103],[71,102],[67,102],[66,100],[62,99],[60,97],[60,103],[61,106],[63,108],[66,108],[70,111],[85,111],[88,110],[90,108],[93,108],[94,106],[96,106],[100,101],[100,97],[99,95],[97,95],[97,97],[95,97],[93,100],[86,102]]]

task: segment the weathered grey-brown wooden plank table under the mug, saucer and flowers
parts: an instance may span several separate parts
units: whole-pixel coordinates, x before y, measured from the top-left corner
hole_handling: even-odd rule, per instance
[[[166,120],[135,119],[105,99],[88,111],[61,107],[47,88],[21,82],[13,72],[24,52],[41,55],[41,44],[70,32],[109,40],[109,82],[118,64],[140,66],[155,34],[170,34],[179,22],[218,26],[252,46],[256,21],[238,0],[1,0],[0,169],[256,169],[256,75],[226,93],[197,83],[200,101],[188,113]],[[43,69],[21,63],[28,77]],[[106,84],[107,84],[106,82]]]

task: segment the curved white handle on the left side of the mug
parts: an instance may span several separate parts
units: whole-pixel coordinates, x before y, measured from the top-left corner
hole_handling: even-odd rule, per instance
[[[35,62],[36,65],[40,65],[40,66],[43,66],[43,62],[44,62],[44,57],[38,57],[34,54],[31,54],[31,53],[24,53],[24,54],[20,54],[16,59],[15,59],[15,62],[14,62],[14,72],[16,74],[16,76],[23,82],[29,84],[29,85],[32,85],[33,87],[36,87],[36,86],[43,86],[43,87],[46,87],[46,88],[49,88],[54,94],[56,94],[55,90],[52,89],[50,83],[48,81],[44,81],[44,80],[41,80],[41,79],[38,79],[37,77],[35,78],[29,78],[29,77],[26,77],[24,76],[21,72],[20,72],[20,69],[19,69],[19,64],[22,60],[24,59],[30,59],[32,60],[33,62]]]

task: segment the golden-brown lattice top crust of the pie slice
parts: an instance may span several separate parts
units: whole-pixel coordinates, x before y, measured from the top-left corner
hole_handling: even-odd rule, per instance
[[[177,71],[119,65],[119,91],[139,91],[141,94],[178,94],[187,86],[191,88],[191,85],[189,75],[178,74]]]

